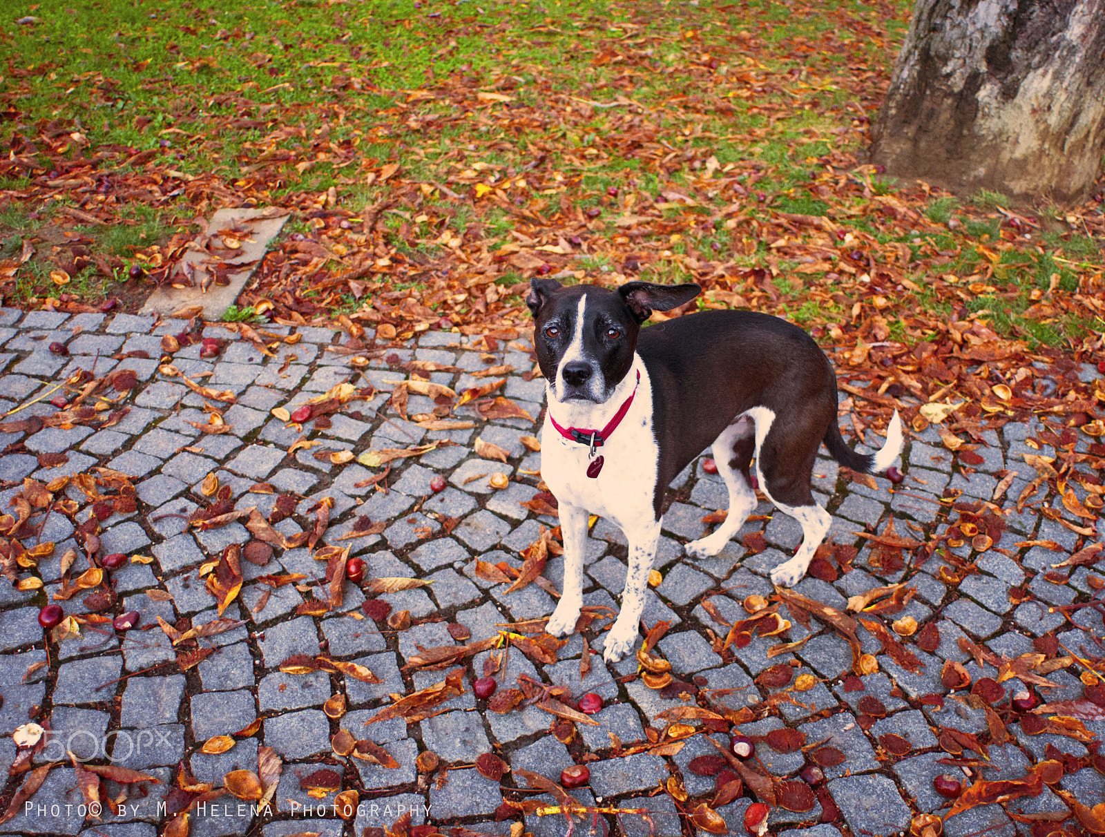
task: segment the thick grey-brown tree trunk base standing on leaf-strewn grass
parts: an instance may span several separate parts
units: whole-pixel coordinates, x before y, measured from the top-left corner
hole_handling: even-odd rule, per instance
[[[917,0],[873,137],[891,174],[1085,199],[1105,151],[1105,0]]]

